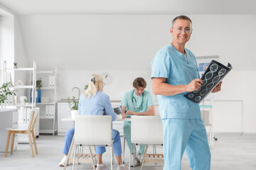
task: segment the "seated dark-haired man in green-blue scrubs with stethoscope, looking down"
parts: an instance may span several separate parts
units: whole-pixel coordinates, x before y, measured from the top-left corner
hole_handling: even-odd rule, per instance
[[[125,93],[122,98],[122,113],[125,113],[126,111],[127,115],[154,115],[155,109],[153,98],[149,91],[144,90],[146,88],[146,81],[142,77],[138,77],[137,79],[134,79],[132,86],[134,89]],[[136,154],[136,148],[132,151],[131,122],[124,122],[124,135],[130,153],[132,154],[132,159],[135,159],[134,162],[131,162],[131,166],[137,166],[140,162]],[[145,146],[141,145],[139,147],[139,157],[142,157],[144,150]]]

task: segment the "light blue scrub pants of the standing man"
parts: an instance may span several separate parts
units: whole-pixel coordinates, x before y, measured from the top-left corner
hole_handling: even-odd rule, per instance
[[[210,170],[210,148],[202,119],[162,120],[164,170],[181,170],[183,152],[192,170]]]

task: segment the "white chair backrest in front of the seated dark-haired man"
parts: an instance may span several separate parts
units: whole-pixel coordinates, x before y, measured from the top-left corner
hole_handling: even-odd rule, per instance
[[[160,116],[132,115],[131,142],[145,145],[163,144]]]

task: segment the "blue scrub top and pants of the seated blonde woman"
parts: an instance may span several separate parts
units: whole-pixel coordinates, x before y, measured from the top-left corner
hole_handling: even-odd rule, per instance
[[[112,116],[112,121],[116,120],[117,118],[117,114],[114,113],[114,110],[111,106],[110,97],[100,91],[97,91],[96,96],[91,96],[90,99],[81,95],[78,104],[78,111],[80,115],[103,115],[105,111],[106,115]],[[72,128],[66,132],[63,154],[68,154],[71,142],[73,140],[74,132],[75,128]],[[119,132],[117,130],[112,130],[112,140],[114,140],[114,155],[120,156],[122,154],[122,145]],[[105,147],[95,147],[95,152],[96,154],[103,154],[106,152],[106,149]]]

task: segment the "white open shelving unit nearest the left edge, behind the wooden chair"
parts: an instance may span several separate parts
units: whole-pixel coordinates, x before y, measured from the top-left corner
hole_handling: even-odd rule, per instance
[[[18,72],[21,72],[22,75],[26,76],[26,74],[31,75],[31,81],[32,85],[30,84],[30,81],[28,79],[24,78],[23,79],[23,85],[18,86],[16,84],[16,74]],[[14,77],[14,87],[13,89],[17,89],[18,92],[16,93],[16,96],[14,98],[14,103],[8,103],[6,105],[6,108],[16,108],[18,109],[18,126],[24,126],[29,123],[30,120],[30,115],[28,115],[28,109],[29,108],[36,108],[36,62],[33,61],[33,67],[29,68],[18,68],[18,69],[13,69],[13,68],[7,68],[6,67],[6,61],[4,61],[4,83],[7,83],[8,81],[8,76],[13,75]],[[11,76],[10,76],[11,77]],[[26,94],[30,94],[29,92],[31,91],[31,103],[26,103],[25,105],[22,103],[19,103],[19,97],[21,94],[19,94],[19,91],[23,91],[22,96],[27,96],[27,99],[29,101],[30,96]],[[23,112],[22,112],[23,111]],[[35,126],[35,134],[36,137],[39,136],[39,119],[36,121],[36,126]],[[18,142],[27,142],[27,137],[22,137],[22,135],[18,135]]]

